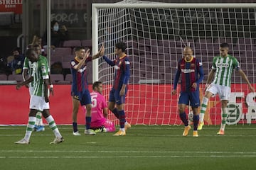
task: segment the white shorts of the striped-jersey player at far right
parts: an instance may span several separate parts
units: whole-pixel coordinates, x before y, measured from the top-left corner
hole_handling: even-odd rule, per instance
[[[218,94],[220,97],[220,101],[229,100],[231,89],[229,86],[220,86],[217,84],[210,84],[206,91],[210,91],[210,93],[216,95]]]

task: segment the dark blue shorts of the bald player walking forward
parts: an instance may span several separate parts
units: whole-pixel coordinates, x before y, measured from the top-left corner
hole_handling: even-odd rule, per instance
[[[199,91],[181,91],[178,103],[189,105],[189,102],[190,106],[193,108],[197,108],[200,106]]]

